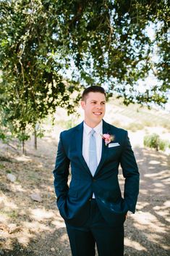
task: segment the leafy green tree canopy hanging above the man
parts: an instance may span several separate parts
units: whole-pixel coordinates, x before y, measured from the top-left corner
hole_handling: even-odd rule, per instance
[[[124,104],[167,102],[168,1],[1,0],[0,10],[2,139],[37,136],[56,106],[74,111],[82,86],[104,85]],[[141,92],[150,73],[158,83]]]

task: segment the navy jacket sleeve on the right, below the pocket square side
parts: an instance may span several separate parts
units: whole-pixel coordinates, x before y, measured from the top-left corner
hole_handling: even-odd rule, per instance
[[[124,200],[128,210],[135,213],[137,196],[139,194],[139,179],[140,174],[137,168],[135,155],[132,151],[127,131],[125,132],[124,149],[121,157],[122,173],[125,178],[124,183]]]

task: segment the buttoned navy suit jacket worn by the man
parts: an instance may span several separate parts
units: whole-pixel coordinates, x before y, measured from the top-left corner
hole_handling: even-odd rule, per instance
[[[135,212],[139,172],[127,131],[103,121],[103,133],[114,135],[111,143],[119,146],[106,146],[103,140],[101,162],[94,176],[82,157],[83,122],[60,134],[54,187],[61,217],[74,226],[81,226],[88,219],[93,193],[103,218],[111,226],[121,226],[128,210]],[[124,176],[123,198],[118,181],[119,165]]]

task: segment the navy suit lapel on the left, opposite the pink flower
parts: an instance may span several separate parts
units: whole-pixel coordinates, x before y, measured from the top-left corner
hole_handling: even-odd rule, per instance
[[[80,158],[80,162],[82,163],[85,170],[87,170],[88,173],[90,173],[88,165],[85,162],[84,157],[82,156],[82,136],[83,136],[83,122],[80,123],[80,125],[77,125],[75,141],[76,141],[77,154]],[[90,175],[91,175],[91,173],[90,173]]]

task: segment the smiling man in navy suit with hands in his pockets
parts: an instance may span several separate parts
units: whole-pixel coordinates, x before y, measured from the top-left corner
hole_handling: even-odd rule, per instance
[[[104,89],[86,88],[81,106],[84,121],[60,134],[54,169],[57,206],[66,223],[72,256],[94,256],[95,244],[99,256],[123,256],[124,220],[127,212],[135,213],[139,192],[137,163],[127,131],[103,120]]]

